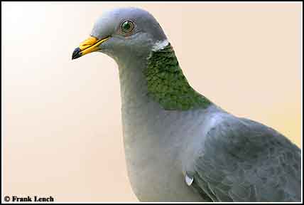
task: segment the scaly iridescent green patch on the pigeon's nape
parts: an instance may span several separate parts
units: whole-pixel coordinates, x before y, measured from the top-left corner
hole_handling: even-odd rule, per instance
[[[206,108],[212,103],[189,85],[170,43],[152,51],[144,75],[148,81],[148,95],[165,110]]]

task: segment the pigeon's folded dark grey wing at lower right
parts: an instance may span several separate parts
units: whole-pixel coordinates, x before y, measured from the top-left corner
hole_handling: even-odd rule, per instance
[[[191,186],[212,201],[300,201],[300,149],[265,125],[233,117],[207,132]]]

